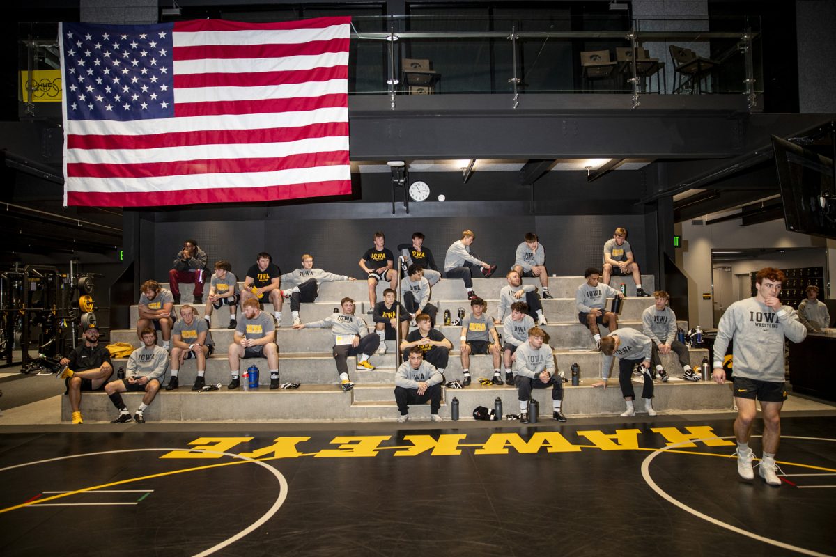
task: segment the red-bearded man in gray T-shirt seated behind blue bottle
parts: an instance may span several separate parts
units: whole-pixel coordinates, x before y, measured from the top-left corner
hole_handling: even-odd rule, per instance
[[[261,311],[256,298],[242,304],[244,315],[235,327],[232,344],[229,345],[229,373],[232,381],[227,389],[241,387],[241,360],[251,357],[266,357],[270,370],[270,388],[278,388],[278,345],[276,325],[273,318]]]

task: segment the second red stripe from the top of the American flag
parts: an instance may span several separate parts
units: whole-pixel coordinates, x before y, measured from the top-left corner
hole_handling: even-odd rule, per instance
[[[318,56],[324,53],[348,52],[348,38],[310,41],[302,44],[204,44],[175,47],[172,55],[180,60],[228,60],[236,58],[286,58],[288,56]]]

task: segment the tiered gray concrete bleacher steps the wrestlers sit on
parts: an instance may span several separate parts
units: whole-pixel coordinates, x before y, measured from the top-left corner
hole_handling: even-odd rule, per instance
[[[524,279],[530,284],[537,284],[536,279]],[[548,318],[548,325],[543,329],[549,335],[549,344],[558,369],[569,377],[569,368],[578,363],[581,369],[581,384],[572,387],[566,384],[563,412],[573,415],[616,414],[623,411],[624,403],[620,395],[617,379],[610,380],[606,391],[592,389],[591,384],[601,373],[602,357],[594,350],[594,342],[589,331],[577,320],[574,309],[574,291],[584,281],[581,277],[551,277],[549,291],[554,299],[543,300],[543,310]],[[628,298],[624,301],[619,316],[619,327],[641,327],[641,312],[653,303],[652,298],[630,297],[635,293],[635,285],[630,277],[615,277],[611,285],[615,288],[621,282],[627,286]],[[646,291],[653,291],[652,276],[644,276]],[[499,290],[506,284],[504,278],[475,279],[474,290],[488,303],[487,313],[495,315]],[[163,287],[167,287],[163,284]],[[378,299],[386,286],[378,286]],[[181,286],[181,299],[191,303],[193,285]],[[329,316],[339,307],[339,300],[344,296],[354,298],[358,316],[364,316],[372,327],[371,316],[365,315],[370,309],[368,290],[364,281],[341,281],[324,283],[319,291],[319,298],[313,304],[303,304],[300,311],[303,322],[312,322]],[[451,339],[454,350],[451,351],[450,365],[446,368],[446,380],[461,379],[461,360],[458,351],[460,327],[444,327],[441,324],[443,311],[449,309],[453,319],[459,307],[470,311],[466,300],[466,291],[461,281],[442,279],[433,287],[431,301],[439,307],[439,327],[444,335]],[[202,318],[205,304],[196,306]],[[179,310],[179,306],[176,307]],[[273,307],[265,306],[265,311],[272,315]],[[240,310],[239,310],[240,312]],[[130,308],[131,323],[136,322],[136,306]],[[394,420],[397,408],[393,395],[395,387],[395,369],[399,364],[394,341],[387,341],[387,353],[371,357],[375,371],[354,370],[355,359],[349,358],[349,373],[355,383],[354,390],[343,392],[337,385],[338,376],[331,357],[332,336],[329,329],[294,330],[290,327],[290,307],[283,308],[281,328],[277,331],[279,346],[279,374],[281,382],[299,382],[302,386],[291,390],[269,390],[267,362],[263,358],[242,361],[242,370],[253,363],[259,368],[260,387],[248,392],[242,388],[228,391],[230,380],[227,362],[227,347],[232,342],[233,332],[227,329],[229,312],[227,306],[214,311],[212,315],[212,337],[216,352],[206,365],[206,384],[221,383],[222,389],[214,392],[192,392],[191,385],[196,378],[194,360],[187,360],[181,366],[180,388],[176,391],[161,391],[154,403],[146,410],[145,417],[150,421],[354,421],[354,420]],[[682,327],[687,327],[683,322]],[[602,334],[606,334],[602,327]],[[135,330],[114,330],[110,332],[111,342],[130,342],[140,346]],[[691,365],[699,367],[707,350],[691,350]],[[731,408],[732,397],[727,386],[713,383],[693,383],[682,381],[682,370],[675,355],[663,357],[665,369],[672,377],[670,382],[656,385],[655,408],[660,412],[681,412],[691,410]],[[124,367],[125,359],[116,359],[115,368]],[[517,389],[508,386],[482,387],[479,377],[492,376],[492,360],[488,356],[471,357],[473,384],[465,389],[444,389],[441,416],[450,417],[452,397],[460,401],[461,417],[471,419],[472,409],[482,405],[493,407],[496,397],[501,397],[505,413],[518,413]],[[614,374],[613,374],[614,372]],[[610,373],[617,377],[617,368]],[[504,377],[504,374],[503,374]],[[166,376],[165,382],[168,382]],[[636,383],[636,392],[640,393],[640,383]],[[141,393],[123,395],[125,403],[133,411],[140,403]],[[541,403],[541,412],[550,416],[550,392],[538,390],[535,396]],[[246,398],[242,398],[246,397]],[[639,405],[641,407],[641,405]],[[85,393],[82,402],[84,418],[87,421],[105,421],[115,416],[110,400],[103,393]],[[429,405],[410,407],[414,418],[429,418]],[[62,403],[62,419],[69,421],[69,401]]]

